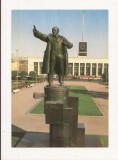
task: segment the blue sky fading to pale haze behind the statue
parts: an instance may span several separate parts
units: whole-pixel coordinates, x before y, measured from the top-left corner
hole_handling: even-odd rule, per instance
[[[108,10],[12,10],[12,55],[43,57],[46,42],[33,35],[33,25],[44,34],[52,27],[73,43],[69,57],[78,56],[82,41],[82,17],[84,13],[84,39],[88,44],[87,56],[108,58]]]

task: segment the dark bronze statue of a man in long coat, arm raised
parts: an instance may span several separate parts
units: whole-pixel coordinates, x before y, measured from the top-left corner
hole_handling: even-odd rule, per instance
[[[35,37],[47,42],[43,58],[42,73],[48,74],[48,83],[50,86],[53,83],[53,74],[55,73],[59,76],[60,85],[63,85],[64,75],[67,74],[68,70],[67,48],[72,48],[73,44],[65,37],[58,35],[58,27],[53,27],[52,34],[46,35],[39,32],[34,25],[33,33]]]

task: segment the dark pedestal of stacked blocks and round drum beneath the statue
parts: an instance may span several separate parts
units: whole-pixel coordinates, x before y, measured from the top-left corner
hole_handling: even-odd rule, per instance
[[[69,97],[66,86],[46,86],[44,113],[50,124],[51,147],[78,145],[78,97]],[[85,133],[84,133],[85,134]]]

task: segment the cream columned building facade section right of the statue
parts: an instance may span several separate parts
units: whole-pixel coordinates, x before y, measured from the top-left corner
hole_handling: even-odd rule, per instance
[[[69,58],[68,72],[76,76],[100,77],[108,72],[108,59],[80,57]]]

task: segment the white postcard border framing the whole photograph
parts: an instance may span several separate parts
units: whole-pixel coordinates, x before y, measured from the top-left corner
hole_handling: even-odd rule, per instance
[[[3,160],[117,160],[117,0],[2,0],[1,2],[1,115]],[[11,10],[13,9],[107,9],[109,11],[109,147],[108,148],[11,148]],[[102,124],[101,124],[102,125]]]

